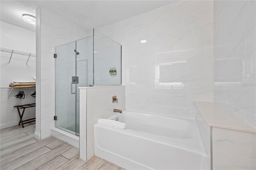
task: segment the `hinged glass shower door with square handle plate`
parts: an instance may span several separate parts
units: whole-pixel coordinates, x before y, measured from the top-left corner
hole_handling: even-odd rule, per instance
[[[76,42],[55,51],[55,126],[76,134]]]

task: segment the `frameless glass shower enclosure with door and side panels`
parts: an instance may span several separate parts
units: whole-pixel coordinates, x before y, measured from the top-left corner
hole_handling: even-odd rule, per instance
[[[55,52],[55,126],[79,135],[78,87],[122,84],[122,46],[94,29]]]

